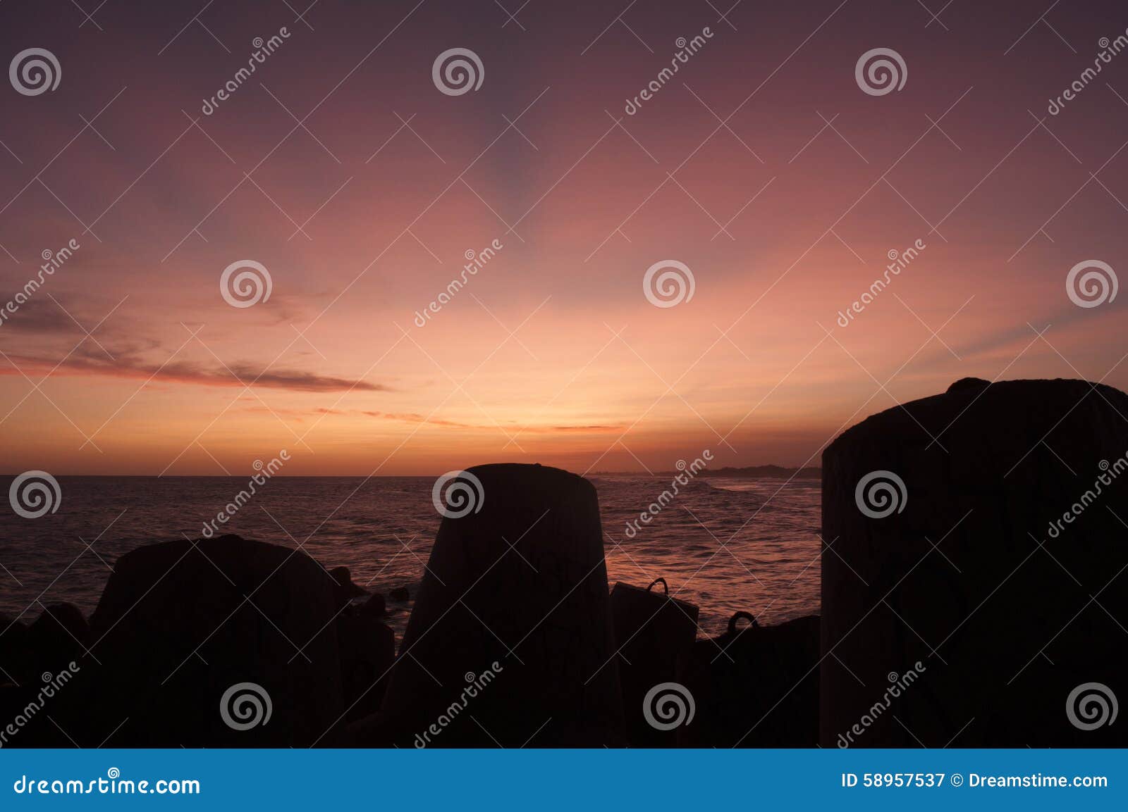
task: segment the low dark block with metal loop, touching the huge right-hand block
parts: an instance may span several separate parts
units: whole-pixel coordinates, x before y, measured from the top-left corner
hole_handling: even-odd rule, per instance
[[[679,747],[814,747],[819,741],[818,617],[778,626],[755,624],[747,612],[729,630],[694,644],[678,663],[678,681],[696,714],[677,729]]]

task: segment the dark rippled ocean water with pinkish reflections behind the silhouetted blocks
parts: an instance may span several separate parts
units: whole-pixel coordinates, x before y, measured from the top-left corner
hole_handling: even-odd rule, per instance
[[[592,476],[599,492],[610,583],[670,592],[700,608],[699,635],[734,612],[763,624],[819,612],[819,483],[697,479],[633,537],[627,521],[670,487],[668,478]],[[12,478],[0,478],[8,493]],[[29,622],[38,601],[97,605],[114,561],[142,544],[197,538],[203,523],[246,488],[245,478],[62,476],[59,509],[39,518],[0,511],[0,612]],[[431,478],[275,476],[222,530],[302,545],[341,564],[370,591],[406,586],[414,597],[440,516]],[[403,634],[409,603],[388,601]]]

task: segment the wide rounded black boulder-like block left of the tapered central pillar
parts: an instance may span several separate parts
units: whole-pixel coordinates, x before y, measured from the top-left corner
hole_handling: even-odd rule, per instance
[[[312,744],[344,711],[334,589],[301,552],[239,536],[126,553],[90,618],[91,653],[60,694],[60,724],[83,747]],[[221,698],[246,682],[272,712],[236,730]],[[252,710],[229,706],[228,719]]]

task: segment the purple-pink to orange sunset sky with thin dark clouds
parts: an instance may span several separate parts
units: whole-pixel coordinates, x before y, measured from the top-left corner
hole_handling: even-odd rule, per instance
[[[309,2],[0,5],[59,79],[0,86],[6,473],[818,465],[961,377],[1128,385],[1067,286],[1128,267],[1122,3]]]

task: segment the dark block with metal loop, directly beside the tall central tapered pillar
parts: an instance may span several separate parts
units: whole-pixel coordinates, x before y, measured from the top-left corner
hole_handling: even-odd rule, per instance
[[[662,585],[661,591],[654,589]],[[643,698],[659,682],[677,676],[678,657],[697,639],[697,607],[669,595],[664,578],[645,589],[619,581],[611,589],[611,622],[620,657],[623,713],[632,747],[676,747],[677,731],[646,721]]]

